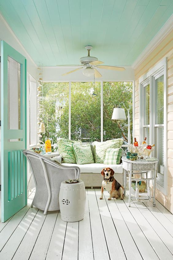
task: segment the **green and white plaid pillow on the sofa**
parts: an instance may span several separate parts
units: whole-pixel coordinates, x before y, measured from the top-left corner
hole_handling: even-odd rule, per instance
[[[121,154],[121,148],[108,148],[106,150],[104,164],[120,164]]]

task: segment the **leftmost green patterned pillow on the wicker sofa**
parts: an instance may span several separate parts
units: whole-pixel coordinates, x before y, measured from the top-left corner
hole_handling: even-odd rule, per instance
[[[77,143],[77,141],[75,141]],[[72,142],[67,142],[62,139],[58,140],[58,152],[62,156],[63,163],[76,163],[76,157],[72,148]],[[80,144],[80,143],[78,143]]]

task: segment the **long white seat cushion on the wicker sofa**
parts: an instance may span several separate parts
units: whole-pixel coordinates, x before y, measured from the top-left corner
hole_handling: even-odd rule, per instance
[[[122,164],[104,164],[104,163],[90,163],[90,164],[75,164],[75,163],[62,163],[65,166],[78,166],[81,173],[100,173],[103,168],[110,167],[115,173],[123,173]]]

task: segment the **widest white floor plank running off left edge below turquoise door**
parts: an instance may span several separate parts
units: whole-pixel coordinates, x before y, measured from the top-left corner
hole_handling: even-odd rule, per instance
[[[0,233],[0,251],[5,246],[6,242],[10,238],[10,236],[13,234],[14,230],[17,228],[17,226],[20,224],[21,220],[29,210],[29,206],[25,206],[20,211],[18,211],[13,218],[8,222],[8,224],[3,228],[3,230]]]

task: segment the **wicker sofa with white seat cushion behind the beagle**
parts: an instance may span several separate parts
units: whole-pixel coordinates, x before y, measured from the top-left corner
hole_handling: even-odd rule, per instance
[[[87,143],[83,143],[87,144]],[[93,146],[92,143],[91,150],[93,152]],[[123,168],[122,164],[111,164],[106,165],[103,163],[90,163],[90,164],[75,164],[75,163],[62,163],[64,166],[77,166],[80,168],[80,179],[82,179],[85,183],[86,187],[101,187],[102,186],[102,180],[103,177],[100,174],[102,169],[105,167],[110,167],[113,169],[114,178],[123,185],[124,183],[124,175],[123,175]]]

